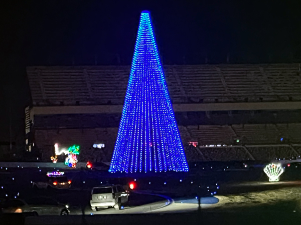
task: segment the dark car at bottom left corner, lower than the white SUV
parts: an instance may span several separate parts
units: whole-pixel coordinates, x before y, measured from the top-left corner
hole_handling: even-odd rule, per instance
[[[1,205],[2,213],[35,212],[38,215],[68,215],[68,205],[48,197],[35,197],[28,200],[9,199]]]

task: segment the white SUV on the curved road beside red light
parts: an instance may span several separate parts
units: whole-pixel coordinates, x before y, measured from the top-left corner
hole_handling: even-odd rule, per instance
[[[105,185],[93,187],[91,191],[91,208],[96,211],[101,207],[115,207],[122,209],[123,203],[128,200],[129,191],[121,185]]]

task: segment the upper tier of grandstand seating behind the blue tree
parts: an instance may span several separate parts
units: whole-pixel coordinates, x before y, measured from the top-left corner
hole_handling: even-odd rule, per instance
[[[301,99],[300,65],[166,65],[173,103]],[[32,66],[34,105],[123,104],[129,66]]]

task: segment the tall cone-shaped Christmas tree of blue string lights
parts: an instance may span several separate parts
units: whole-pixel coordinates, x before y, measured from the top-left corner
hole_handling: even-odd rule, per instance
[[[110,172],[188,171],[148,11],[142,11]]]

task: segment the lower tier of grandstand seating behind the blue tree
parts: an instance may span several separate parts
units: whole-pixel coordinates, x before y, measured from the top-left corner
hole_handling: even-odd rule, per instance
[[[301,136],[297,135],[300,129],[301,123],[179,126],[189,161],[270,160],[297,156],[301,154]],[[117,127],[37,129],[35,138],[37,146],[44,149],[42,157],[46,161],[54,154],[53,143],[56,142],[64,143],[62,147],[80,144],[81,161],[95,158],[109,161],[117,132]],[[198,142],[196,147],[191,144],[194,141]],[[104,143],[105,147],[93,148],[94,143]]]

